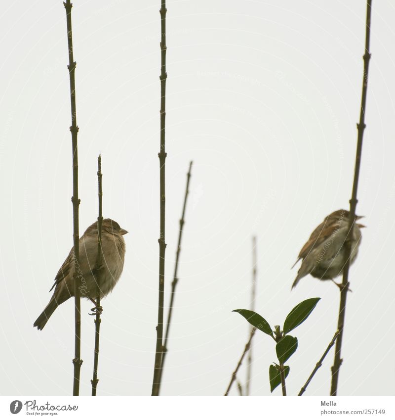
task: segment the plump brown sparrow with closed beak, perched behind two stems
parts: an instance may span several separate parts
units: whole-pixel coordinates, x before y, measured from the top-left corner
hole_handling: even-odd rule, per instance
[[[117,284],[122,274],[125,261],[125,240],[123,235],[128,233],[112,219],[102,222],[102,257],[100,266],[96,267],[98,255],[98,227],[97,221],[92,223],[79,238],[79,260],[74,254],[74,246],[66,260],[60,267],[55,282],[55,288],[48,305],[41,312],[33,327],[41,330],[45,327],[55,309],[63,302],[74,296],[75,268],[78,269],[78,278],[81,282],[79,289],[81,297],[93,300],[96,298],[96,278],[99,282],[100,295],[108,295]],[[96,303],[95,303],[96,305]]]

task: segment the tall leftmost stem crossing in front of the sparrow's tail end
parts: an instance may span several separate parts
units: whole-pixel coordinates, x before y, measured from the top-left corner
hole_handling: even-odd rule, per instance
[[[74,242],[74,301],[75,301],[75,346],[74,346],[74,380],[73,395],[79,395],[79,374],[81,371],[81,307],[80,307],[80,290],[79,290],[79,198],[78,198],[78,126],[77,126],[77,110],[76,110],[76,80],[75,70],[77,63],[73,57],[73,32],[71,28],[71,8],[73,4],[70,0],[63,2],[66,8],[67,21],[67,41],[69,47],[69,69],[70,76],[70,102],[71,102],[71,120],[70,127],[72,148],[73,148],[73,242]]]

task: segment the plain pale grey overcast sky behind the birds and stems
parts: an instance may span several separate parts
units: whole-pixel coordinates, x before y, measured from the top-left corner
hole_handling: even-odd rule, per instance
[[[194,160],[163,395],[221,395],[244,348],[251,237],[256,310],[293,331],[296,395],[337,326],[339,291],[290,270],[311,231],[348,208],[359,119],[366,1],[168,1],[166,306],[189,161]],[[160,1],[74,1],[80,233],[103,210],[129,233],[103,300],[98,395],[149,395],[158,302]],[[339,395],[393,395],[395,5],[373,1],[366,130]],[[0,25],[1,394],[72,392],[73,300],[33,322],[72,246],[66,13],[61,1],[6,4]],[[82,302],[81,394],[90,395],[92,304]],[[253,342],[253,395],[270,395],[275,343]],[[306,395],[328,395],[333,350]],[[245,363],[239,380],[245,381]],[[274,392],[280,395],[280,387]],[[237,395],[237,389],[232,391]]]

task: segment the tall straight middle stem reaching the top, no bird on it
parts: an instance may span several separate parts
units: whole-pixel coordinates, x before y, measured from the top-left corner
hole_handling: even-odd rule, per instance
[[[160,235],[159,235],[159,293],[158,293],[158,325],[157,325],[157,345],[155,353],[154,379],[152,383],[152,395],[159,395],[159,374],[162,363],[163,351],[163,300],[164,300],[164,254],[166,250],[165,242],[165,117],[166,117],[166,1],[161,1],[160,13],[160,151],[159,167],[160,167]]]

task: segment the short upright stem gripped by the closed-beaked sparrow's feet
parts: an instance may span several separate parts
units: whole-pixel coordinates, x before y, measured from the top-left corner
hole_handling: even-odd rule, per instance
[[[95,354],[93,360],[93,378],[91,379],[92,384],[92,395],[96,395],[97,382],[97,367],[99,363],[99,339],[100,339],[100,315],[102,313],[102,308],[100,306],[100,285],[99,285],[99,273],[100,267],[103,264],[103,250],[102,250],[102,224],[103,224],[103,211],[102,211],[102,158],[101,155],[97,158],[97,185],[98,185],[98,197],[99,197],[99,216],[97,218],[97,258],[95,265],[95,280],[96,280],[96,318],[95,318]]]

